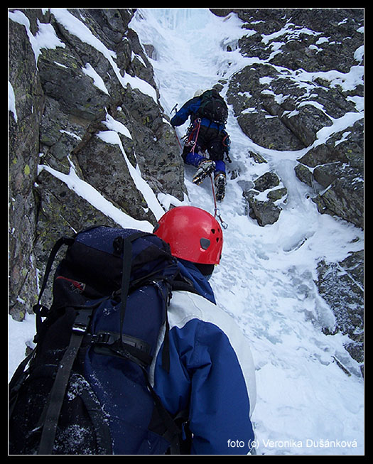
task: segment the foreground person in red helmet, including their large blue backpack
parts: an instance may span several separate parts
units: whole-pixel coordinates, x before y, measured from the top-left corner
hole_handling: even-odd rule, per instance
[[[34,306],[36,350],[9,385],[10,453],[253,453],[249,342],[208,282],[222,247],[215,217],[193,206],[166,212],[153,234],[91,227],[58,240]]]

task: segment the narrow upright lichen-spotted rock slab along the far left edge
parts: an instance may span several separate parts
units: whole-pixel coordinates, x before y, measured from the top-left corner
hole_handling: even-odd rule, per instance
[[[36,18],[31,18],[31,26]],[[45,97],[24,26],[9,21],[9,82],[16,89],[16,114],[9,112],[9,282],[10,308],[21,295],[36,296],[33,183],[38,166],[38,134]],[[22,239],[21,239],[22,237]],[[34,299],[31,301],[34,303]],[[27,300],[27,298],[26,298]],[[28,300],[29,301],[29,300]],[[19,305],[18,311],[22,311]],[[15,314],[18,311],[14,311]],[[23,310],[24,311],[24,310]]]

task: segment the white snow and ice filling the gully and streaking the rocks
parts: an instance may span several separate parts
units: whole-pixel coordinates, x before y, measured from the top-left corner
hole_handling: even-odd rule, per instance
[[[72,18],[63,10],[58,14],[58,21],[64,21],[67,28],[73,27],[85,40],[83,23],[80,28],[76,21],[69,23]],[[237,50],[243,31],[235,15],[218,18],[207,9],[139,9],[130,26],[139,34],[141,43],[155,47],[153,57],[156,59],[151,63],[161,92],[161,104],[169,115],[176,103],[180,108],[193,97],[195,90],[207,89],[220,78],[229,78],[256,60],[243,58]],[[268,37],[264,37],[266,40]],[[232,52],[225,51],[227,45]],[[96,46],[103,45],[96,43]],[[107,50],[103,49],[102,53]],[[362,78],[360,68],[352,68],[347,75],[332,71],[324,77],[353,86]],[[87,68],[87,72],[93,71]],[[313,75],[305,72],[297,78],[306,85]],[[126,82],[126,76],[123,80]],[[357,105],[359,113],[333,121],[328,130],[319,132],[315,144],[323,143],[341,127],[348,127],[352,119],[363,117],[362,102]],[[126,128],[110,118],[106,124],[108,131],[99,136],[111,143],[118,140],[120,144],[116,133]],[[178,128],[179,137],[187,126]],[[256,146],[244,136],[232,112],[227,130],[232,140],[230,156],[233,160],[228,167],[239,168],[240,176],[228,181],[224,203],[219,205],[228,228],[223,258],[211,284],[220,306],[237,321],[252,349],[257,380],[256,409],[252,416],[257,453],[363,454],[363,382],[357,363],[343,348],[345,337],[324,335],[320,330],[325,326],[332,328],[334,316],[318,296],[313,283],[320,258],[342,260],[349,252],[362,249],[363,234],[347,222],[317,212],[309,200],[308,186],[301,183],[293,171],[296,158],[306,149],[280,152]],[[238,182],[252,180],[264,172],[262,165],[253,163],[247,156],[249,150],[263,155],[288,188],[286,207],[279,221],[271,226],[259,227],[244,214],[242,188]],[[211,185],[208,181],[200,187],[193,185],[193,171],[188,166],[185,168],[189,198],[183,204],[196,205],[213,214]],[[170,203],[180,205],[170,195],[156,198],[142,180],[139,169],[131,174],[157,217]],[[114,211],[90,185],[82,183],[73,166],[69,176],[61,177],[57,172],[54,175],[123,227],[134,227],[132,218]],[[136,223],[136,227],[149,230],[151,225],[143,222]],[[26,315],[22,323],[9,318],[9,377],[23,359],[24,342],[32,345],[33,333],[31,315]],[[335,358],[353,372],[352,376],[347,377]],[[237,443],[241,445],[246,446]]]

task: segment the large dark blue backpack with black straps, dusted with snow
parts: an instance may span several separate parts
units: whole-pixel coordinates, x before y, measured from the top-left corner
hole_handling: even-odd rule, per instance
[[[40,298],[63,244],[46,308]],[[9,384],[10,454],[180,453],[185,418],[168,414],[148,379],[163,327],[169,369],[173,288],[188,283],[154,234],[94,227],[56,242],[33,307],[36,348]]]

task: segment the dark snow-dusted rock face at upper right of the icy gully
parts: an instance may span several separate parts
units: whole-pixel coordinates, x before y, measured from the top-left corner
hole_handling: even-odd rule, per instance
[[[320,185],[313,199],[319,211],[363,227],[363,88],[347,79],[362,72],[362,9],[213,10],[231,11],[248,30],[242,55],[261,60],[229,82],[242,131],[266,149],[307,149],[296,175]],[[302,79],[310,73],[313,85]],[[322,129],[337,119],[349,122],[324,141]]]

